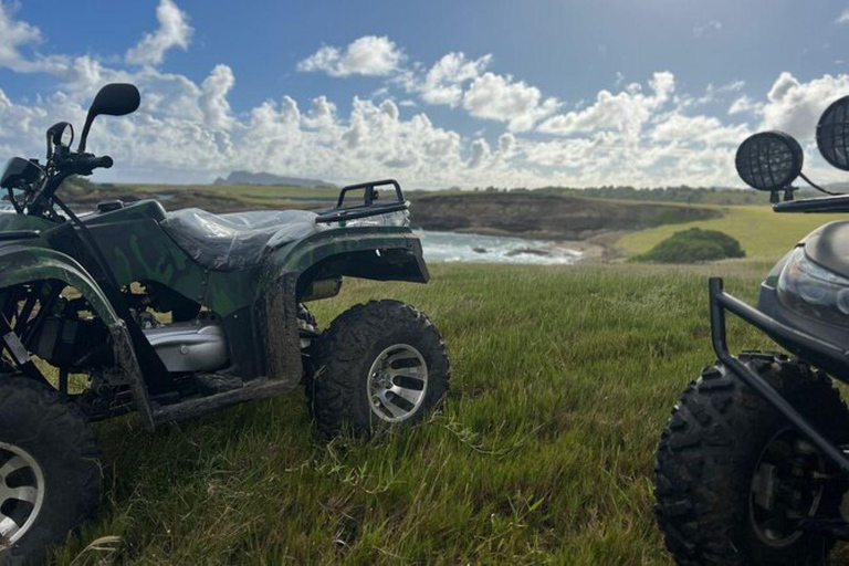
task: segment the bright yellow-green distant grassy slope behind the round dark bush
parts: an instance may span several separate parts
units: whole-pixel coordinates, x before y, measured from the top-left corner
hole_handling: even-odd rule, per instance
[[[722,207],[721,210],[722,218],[632,232],[615,245],[630,254],[644,253],[675,232],[702,228],[719,230],[740,240],[746,258],[777,260],[817,227],[832,220],[846,220],[846,214],[776,214],[769,207]]]

